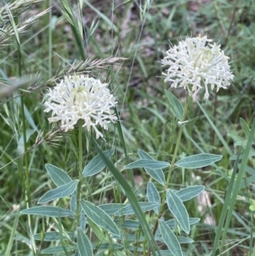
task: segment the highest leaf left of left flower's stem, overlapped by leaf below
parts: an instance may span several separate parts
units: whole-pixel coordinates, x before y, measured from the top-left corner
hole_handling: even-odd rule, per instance
[[[45,168],[55,185],[65,185],[71,182],[71,178],[69,177],[69,175],[66,174],[65,171],[61,170],[60,168],[50,163],[46,163]]]

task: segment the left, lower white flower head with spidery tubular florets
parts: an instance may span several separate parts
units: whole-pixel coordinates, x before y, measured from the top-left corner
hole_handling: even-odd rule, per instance
[[[108,129],[108,123],[117,120],[111,110],[117,102],[107,86],[93,77],[64,77],[54,88],[48,88],[48,99],[44,103],[44,111],[52,111],[48,122],[61,121],[60,128],[66,132],[81,119],[88,131],[94,129],[96,139],[103,138],[97,126]]]

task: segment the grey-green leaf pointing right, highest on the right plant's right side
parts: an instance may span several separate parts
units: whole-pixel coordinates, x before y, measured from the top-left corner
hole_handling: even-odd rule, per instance
[[[187,156],[175,163],[176,166],[186,169],[202,168],[217,162],[222,158],[220,155],[198,154]]]

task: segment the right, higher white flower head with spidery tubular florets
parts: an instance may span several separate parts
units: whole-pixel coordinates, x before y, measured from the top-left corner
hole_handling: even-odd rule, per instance
[[[162,73],[165,82],[172,82],[172,88],[183,87],[187,89],[195,101],[196,95],[202,89],[206,89],[204,99],[209,98],[208,86],[211,89],[216,86],[227,88],[234,75],[230,71],[229,57],[225,56],[220,45],[211,43],[211,39],[205,37],[187,37],[178,45],[170,48],[167,56],[161,60],[162,66],[169,66]]]

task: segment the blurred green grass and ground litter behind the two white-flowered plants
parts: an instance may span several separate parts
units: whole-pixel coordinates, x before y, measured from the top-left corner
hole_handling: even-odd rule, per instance
[[[17,37],[11,37],[8,46],[0,51],[0,79],[3,84],[8,80],[14,81],[15,77],[40,75],[40,80],[30,85],[36,89],[26,86],[19,92],[2,98],[0,102],[1,255],[6,253],[14,230],[11,255],[29,255],[29,228],[32,226],[38,232],[43,225],[48,224],[48,219],[45,224],[33,219],[32,225],[29,225],[25,216],[20,216],[19,219],[17,217],[19,208],[26,208],[27,185],[31,191],[31,205],[36,205],[38,198],[54,187],[46,174],[45,163],[53,163],[69,170],[70,176],[77,169],[74,162],[77,145],[73,145],[66,134],[54,137],[57,146],[50,143],[36,145],[39,131],[45,135],[52,128],[48,124],[48,114],[43,112],[45,85],[59,71],[63,71],[66,66],[70,67],[75,61],[78,63],[84,57],[80,54],[79,43],[69,20],[59,11],[64,6],[63,3],[65,1],[42,1],[22,12],[17,23],[52,7],[47,14],[20,33],[19,51]],[[234,168],[233,160],[242,142],[246,142],[246,131],[254,118],[254,1],[83,1],[82,13],[77,12],[78,1],[71,1],[70,4],[77,17],[74,26],[78,26],[79,20],[83,24],[86,59],[127,58],[118,61],[119,64],[90,73],[111,82],[111,89],[118,100],[130,161],[137,160],[137,151],[142,149],[157,160],[171,162],[178,126],[176,118],[169,114],[171,111],[164,94],[164,89],[168,89],[169,85],[163,82],[160,65],[169,44],[178,43],[178,40],[185,37],[207,35],[214,42],[220,43],[229,55],[235,82],[228,90],[213,93],[207,102],[201,97],[201,107],[189,103],[189,118],[200,118],[195,125],[184,128],[178,152],[179,157],[207,152],[223,155],[223,158],[217,167],[185,172],[177,169],[170,181],[173,189],[186,185],[206,185],[208,197],[207,202],[204,202],[204,210],[199,211],[200,202],[197,201],[187,202],[185,206],[192,216],[201,218],[201,222],[192,226],[191,230],[190,238],[195,241],[192,245],[193,253],[207,255],[212,251],[215,228]],[[64,13],[66,14],[65,10]],[[184,91],[176,89],[171,92],[178,100],[184,101]],[[22,100],[20,94],[23,95]],[[22,117],[20,108],[23,104],[25,118]],[[23,151],[22,137],[25,122],[26,152]],[[110,131],[105,133],[106,141],[99,140],[99,145],[102,150],[116,147],[116,166],[122,169],[126,165],[124,149],[116,134],[116,127],[111,126]],[[88,141],[84,141],[84,145],[90,146]],[[255,168],[254,141],[252,146],[253,151],[247,162],[251,169],[242,177],[243,188],[239,191],[233,209],[224,255],[253,255],[253,219],[249,206],[254,198],[254,185],[248,178]],[[233,153],[232,158],[228,149]],[[24,153],[27,158],[24,158]],[[96,154],[95,150],[89,150],[84,162],[88,162]],[[24,173],[25,166],[22,167],[23,161],[27,161],[25,164],[29,169],[29,184]],[[121,196],[120,188],[116,186],[114,179],[105,179],[105,175],[107,173],[104,172],[88,179],[88,190],[84,191],[83,196],[96,204],[111,200],[122,202],[125,198]],[[142,169],[135,169],[133,175],[137,182],[135,194],[143,200],[149,177]],[[64,207],[68,202],[62,200],[61,204]],[[150,218],[149,215],[147,217]],[[212,220],[210,225],[207,224],[207,218]],[[67,219],[65,228],[71,225],[71,220]],[[37,247],[43,246],[45,245],[37,244]]]

